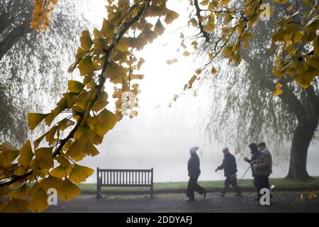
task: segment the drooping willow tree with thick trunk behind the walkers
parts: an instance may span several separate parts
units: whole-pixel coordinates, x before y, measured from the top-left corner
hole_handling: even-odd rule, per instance
[[[246,50],[241,50],[242,65],[220,70],[220,76],[213,79],[211,91],[216,100],[206,130],[220,141],[235,143],[238,152],[247,150],[252,141],[266,140],[278,159],[286,160],[290,155],[287,178],[304,181],[311,179],[306,170],[310,141],[318,141],[318,78],[306,89],[298,87],[291,77],[281,78],[283,85],[276,85],[272,75],[276,52],[271,50],[276,23],[301,24],[306,7],[275,7],[278,13],[252,29],[255,37]],[[291,13],[289,18],[284,17],[285,11]],[[305,54],[312,51],[306,45],[299,49]],[[214,104],[220,100],[225,106],[216,109]]]

